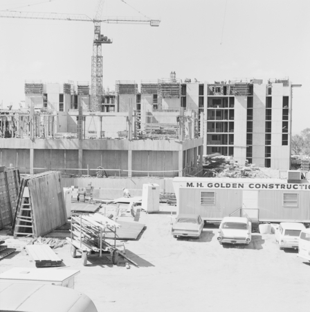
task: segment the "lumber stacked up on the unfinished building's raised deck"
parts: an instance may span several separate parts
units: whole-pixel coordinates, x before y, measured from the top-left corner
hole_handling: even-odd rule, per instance
[[[177,139],[179,125],[174,123],[145,123],[145,137],[152,139]]]

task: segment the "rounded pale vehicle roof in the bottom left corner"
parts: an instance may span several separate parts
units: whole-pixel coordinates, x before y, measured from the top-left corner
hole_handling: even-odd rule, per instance
[[[98,312],[86,295],[71,288],[1,281],[0,311]]]

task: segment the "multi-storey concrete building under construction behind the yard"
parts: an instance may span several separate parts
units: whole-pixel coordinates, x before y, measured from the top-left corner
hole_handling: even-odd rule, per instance
[[[0,112],[1,164],[111,175],[199,175],[202,155],[286,170],[292,88],[282,80],[116,81],[91,111],[89,83],[26,81],[24,109]],[[7,140],[7,138],[15,138]]]

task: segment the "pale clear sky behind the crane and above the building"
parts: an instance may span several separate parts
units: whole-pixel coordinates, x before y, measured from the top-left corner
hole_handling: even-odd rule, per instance
[[[86,14],[98,0],[0,0],[0,10]],[[293,135],[309,124],[309,0],[105,0],[102,16],[160,18],[159,27],[102,24],[103,86],[116,80],[285,78]],[[25,80],[91,83],[93,23],[0,18],[0,104],[24,100]],[[310,91],[310,90],[309,90]]]

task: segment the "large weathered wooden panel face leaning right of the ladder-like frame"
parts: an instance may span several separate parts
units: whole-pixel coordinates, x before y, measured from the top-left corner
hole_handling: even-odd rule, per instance
[[[42,236],[66,223],[66,208],[59,172],[30,178],[28,188],[32,202],[35,236]]]

